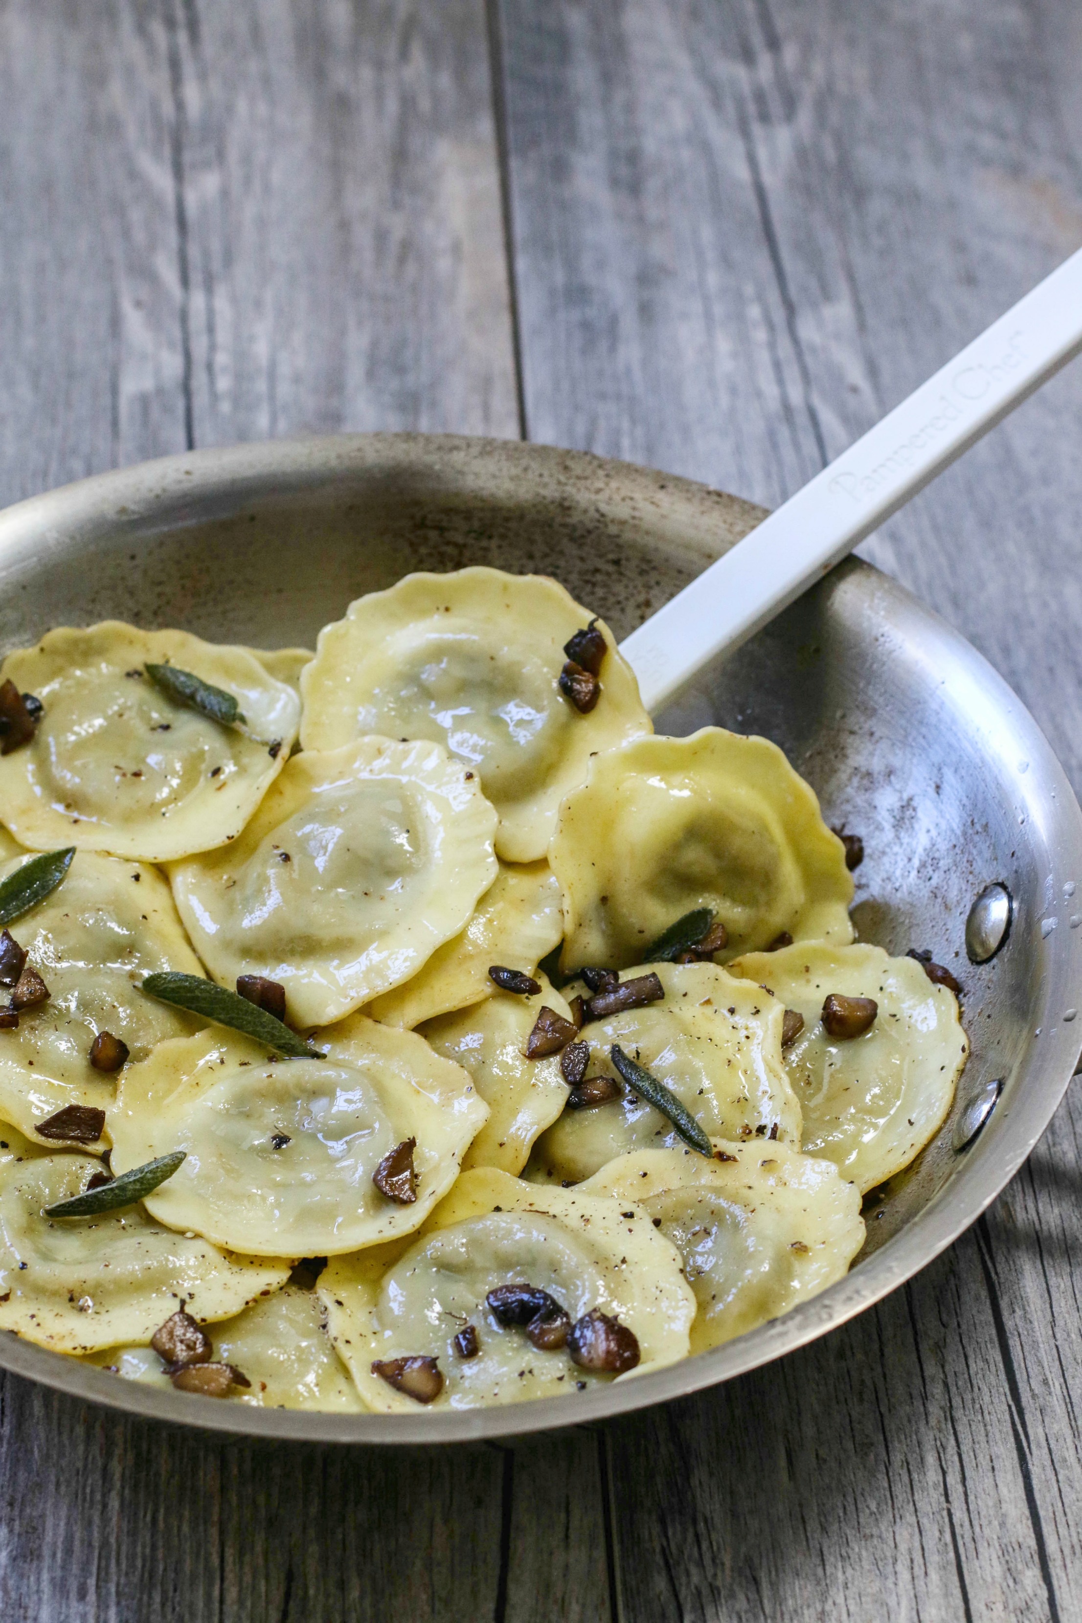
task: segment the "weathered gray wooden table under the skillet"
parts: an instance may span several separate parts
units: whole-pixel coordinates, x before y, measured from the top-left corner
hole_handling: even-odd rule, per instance
[[[1076,0],[0,0],[0,500],[529,435],[775,503],[1082,240]],[[1082,771],[1082,365],[865,550]],[[1074,1084],[1077,1089],[1077,1084]],[[1082,1615],[1082,1099],[946,1256],[514,1451],[0,1384],[8,1623]]]

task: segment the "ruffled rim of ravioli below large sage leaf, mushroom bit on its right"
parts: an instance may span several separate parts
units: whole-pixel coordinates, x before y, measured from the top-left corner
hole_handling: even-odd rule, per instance
[[[266,1227],[258,1208],[245,1208],[245,1195],[255,1198],[256,1190],[230,1191],[232,1216],[222,1214],[219,1204],[211,1206],[200,1193],[206,1172],[200,1167],[198,1151],[185,1146],[185,1131],[174,1123],[190,1121],[191,1112],[198,1110],[200,1096],[219,1079],[238,1071],[243,1074],[248,1068],[248,1074],[258,1076],[268,1063],[274,1063],[268,1061],[266,1050],[258,1044],[221,1029],[162,1042],[149,1060],[122,1073],[117,1104],[109,1117],[114,1172],[128,1172],[157,1156],[187,1147],[187,1162],[146,1196],[148,1211],[172,1229],[204,1233],[216,1245],[258,1256],[331,1256],[414,1233],[454,1183],[462,1154],[483,1126],[488,1107],[469,1073],[435,1053],[412,1031],[380,1026],[363,1014],[354,1014],[341,1026],[323,1031],[320,1048],[324,1050],[328,1065],[360,1070],[380,1096],[386,1115],[397,1123],[396,1134],[401,1131],[388,1149],[407,1138],[417,1139],[414,1165],[419,1182],[412,1204],[399,1206],[376,1195],[368,1212],[350,1212],[349,1201],[344,1199],[339,1211],[344,1232],[337,1235],[326,1229],[318,1235],[302,1235]],[[289,1081],[290,1066],[308,1068],[313,1063],[316,1061],[281,1060],[274,1065],[274,1076],[277,1081]],[[274,1120],[268,1117],[268,1141],[274,1128]],[[213,1126],[209,1136],[213,1144]],[[303,1204],[302,1186],[297,1188],[297,1198]],[[303,1211],[295,1214],[295,1220],[303,1220]]]

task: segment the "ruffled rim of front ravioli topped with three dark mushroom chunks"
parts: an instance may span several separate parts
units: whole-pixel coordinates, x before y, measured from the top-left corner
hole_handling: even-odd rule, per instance
[[[414,1240],[406,1246],[381,1246],[357,1256],[337,1256],[320,1276],[320,1297],[328,1308],[331,1339],[349,1367],[362,1399],[381,1414],[415,1414],[417,1404],[371,1371],[373,1358],[435,1354],[449,1367],[446,1344],[456,1326],[433,1329],[432,1347],[384,1344],[376,1321],[376,1305],[384,1274],[409,1264],[425,1242],[443,1229],[487,1217],[493,1211],[539,1212],[571,1230],[577,1240],[595,1246],[595,1264],[605,1274],[605,1297],[597,1307],[620,1318],[639,1342],[641,1363],[618,1381],[646,1375],[688,1355],[688,1332],[694,1318],[694,1295],[686,1284],[680,1253],[638,1209],[626,1216],[612,1196],[579,1195],[577,1190],[550,1190],[522,1183],[506,1172],[477,1167],[464,1172],[451,1193]],[[569,1363],[569,1370],[574,1367]],[[448,1388],[433,1409],[448,1406]]]

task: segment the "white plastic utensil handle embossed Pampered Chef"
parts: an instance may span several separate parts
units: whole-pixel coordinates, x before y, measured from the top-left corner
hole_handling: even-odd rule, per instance
[[[1082,248],[633,631],[655,712],[826,575],[1082,351]]]

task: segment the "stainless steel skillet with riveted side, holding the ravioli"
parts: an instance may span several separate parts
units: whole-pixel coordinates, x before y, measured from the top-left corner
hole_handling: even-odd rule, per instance
[[[543,571],[626,635],[746,534],[761,510],[623,463],[543,446],[360,435],[200,451],[0,513],[0,651],[115,615],[260,648],[308,643],[414,568]],[[931,948],[965,985],[973,1053],[920,1162],[868,1214],[848,1277],[751,1336],[670,1370],[506,1409],[318,1415],[117,1380],[0,1336],[0,1365],[136,1414],[266,1438],[446,1443],[599,1420],[754,1368],[869,1307],[985,1209],[1033,1147],[1082,1047],[1082,815],[1032,717],[900,586],[847,562],[659,717],[775,738],[831,823],[860,833],[861,936]],[[1001,881],[1012,922],[973,966],[965,920]],[[1080,886],[1076,891],[1076,885]],[[991,1083],[968,1147],[957,1121]]]

